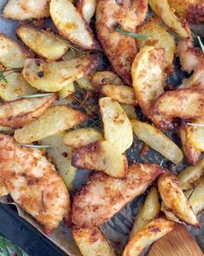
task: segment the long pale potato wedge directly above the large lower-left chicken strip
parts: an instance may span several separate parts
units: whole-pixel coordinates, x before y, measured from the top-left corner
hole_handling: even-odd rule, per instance
[[[29,125],[16,129],[15,140],[19,143],[31,143],[39,141],[50,135],[73,128],[86,120],[86,115],[73,108],[58,105],[41,115],[38,120],[32,121]]]

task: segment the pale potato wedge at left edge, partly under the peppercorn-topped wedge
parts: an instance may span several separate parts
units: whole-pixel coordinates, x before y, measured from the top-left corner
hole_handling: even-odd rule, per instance
[[[33,95],[36,93],[36,89],[29,85],[22,73],[19,72],[3,72],[6,77],[6,81],[0,81],[0,97],[5,102],[10,102],[18,99],[24,95]]]

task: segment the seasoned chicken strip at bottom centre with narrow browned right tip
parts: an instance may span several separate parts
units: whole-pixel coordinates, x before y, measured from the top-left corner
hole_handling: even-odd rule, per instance
[[[91,181],[73,196],[73,223],[81,227],[105,223],[162,173],[163,168],[156,164],[135,164],[129,167],[124,180],[93,174]]]

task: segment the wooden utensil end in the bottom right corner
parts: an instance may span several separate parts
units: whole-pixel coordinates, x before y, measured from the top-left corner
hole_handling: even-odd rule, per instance
[[[157,240],[150,248],[148,256],[203,256],[201,248],[186,226],[176,225],[175,229]]]

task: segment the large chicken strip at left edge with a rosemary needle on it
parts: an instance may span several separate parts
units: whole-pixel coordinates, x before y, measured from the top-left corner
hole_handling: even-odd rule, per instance
[[[67,217],[67,188],[41,150],[21,147],[10,135],[0,134],[0,169],[12,199],[39,221],[46,233]]]

